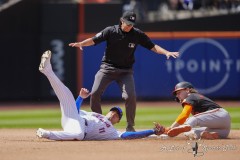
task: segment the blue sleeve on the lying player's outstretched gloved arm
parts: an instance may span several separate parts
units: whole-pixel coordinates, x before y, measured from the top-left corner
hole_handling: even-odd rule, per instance
[[[140,138],[148,137],[152,134],[155,134],[155,131],[153,129],[138,131],[138,132],[124,132],[121,135],[121,138],[122,139],[140,139]]]

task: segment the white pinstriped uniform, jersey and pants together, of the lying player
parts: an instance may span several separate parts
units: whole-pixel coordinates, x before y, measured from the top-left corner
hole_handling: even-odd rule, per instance
[[[71,91],[58,79],[52,70],[50,59],[45,61],[41,72],[48,78],[56,93],[62,113],[63,131],[48,131],[46,138],[52,140],[112,140],[118,139],[121,133],[103,115],[80,111]]]

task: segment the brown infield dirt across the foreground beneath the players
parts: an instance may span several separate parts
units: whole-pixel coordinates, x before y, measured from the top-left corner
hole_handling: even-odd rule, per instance
[[[138,140],[51,141],[36,137],[34,129],[0,129],[1,160],[179,160],[240,159],[240,131],[231,131],[228,139],[198,140],[194,157],[183,135],[160,139],[156,136]]]

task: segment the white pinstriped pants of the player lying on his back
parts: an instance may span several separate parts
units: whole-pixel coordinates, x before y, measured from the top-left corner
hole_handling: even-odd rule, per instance
[[[82,140],[84,138],[85,121],[78,115],[75,99],[71,91],[58,79],[48,64],[42,73],[48,78],[57,98],[60,101],[63,131],[50,131],[49,139]]]

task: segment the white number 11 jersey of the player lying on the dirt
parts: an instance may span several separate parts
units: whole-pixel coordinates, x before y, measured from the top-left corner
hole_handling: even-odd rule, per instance
[[[80,116],[86,120],[84,140],[112,140],[121,136],[104,115],[81,110]]]

